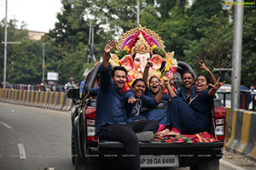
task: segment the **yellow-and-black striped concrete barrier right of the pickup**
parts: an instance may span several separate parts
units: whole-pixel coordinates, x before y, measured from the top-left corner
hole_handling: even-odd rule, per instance
[[[230,139],[224,144],[234,152],[256,160],[256,112],[235,110],[233,112]]]

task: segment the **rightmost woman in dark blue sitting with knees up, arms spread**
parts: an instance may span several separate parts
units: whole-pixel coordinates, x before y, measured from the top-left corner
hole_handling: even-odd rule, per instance
[[[210,126],[210,106],[214,94],[217,92],[224,82],[215,82],[214,85],[207,82],[204,76],[197,77],[195,81],[195,88],[197,94],[190,99],[189,103],[177,97],[170,85],[166,87],[171,91],[171,102],[168,112],[171,116],[170,127],[166,127],[164,131],[158,133],[158,136],[172,135],[172,134],[195,134],[209,130]],[[211,89],[207,89],[208,86]]]

